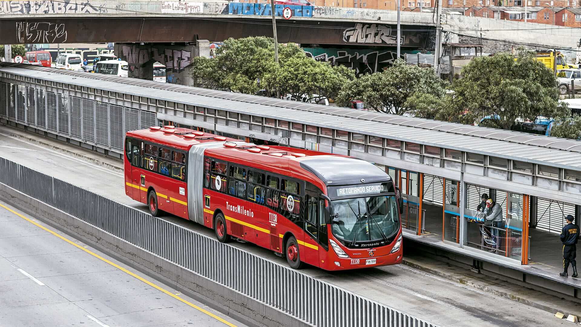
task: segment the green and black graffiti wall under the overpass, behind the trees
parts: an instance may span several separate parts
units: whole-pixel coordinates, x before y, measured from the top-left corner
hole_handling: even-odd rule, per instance
[[[388,67],[397,59],[395,49],[303,48],[303,50],[308,57],[315,59],[315,61],[328,61],[333,65],[343,65],[354,69],[356,74],[381,72],[384,67]]]

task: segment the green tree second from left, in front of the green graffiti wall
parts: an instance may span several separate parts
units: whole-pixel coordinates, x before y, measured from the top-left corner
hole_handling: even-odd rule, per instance
[[[355,79],[353,70],[343,66],[331,66],[328,62],[318,62],[306,55],[295,55],[282,63],[272,74],[264,77],[264,86],[279,90],[306,101],[315,102],[334,98],[343,84]]]

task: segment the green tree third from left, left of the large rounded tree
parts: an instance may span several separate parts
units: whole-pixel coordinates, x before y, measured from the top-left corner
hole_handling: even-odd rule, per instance
[[[379,112],[413,113],[432,117],[442,106],[446,82],[435,76],[432,69],[407,65],[397,59],[391,67],[373,74],[365,74],[345,84],[335,103],[349,106],[352,100],[361,100],[367,108]]]

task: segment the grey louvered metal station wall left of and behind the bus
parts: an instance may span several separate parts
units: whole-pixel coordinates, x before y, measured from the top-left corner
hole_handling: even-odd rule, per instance
[[[0,83],[0,116],[118,154],[125,132],[157,125],[153,111],[101,101],[82,90],[45,88]]]

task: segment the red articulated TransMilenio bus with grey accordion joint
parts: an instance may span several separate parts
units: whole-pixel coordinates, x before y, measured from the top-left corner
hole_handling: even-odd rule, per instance
[[[399,264],[403,202],[370,162],[173,126],[127,132],[125,193],[327,270]]]

